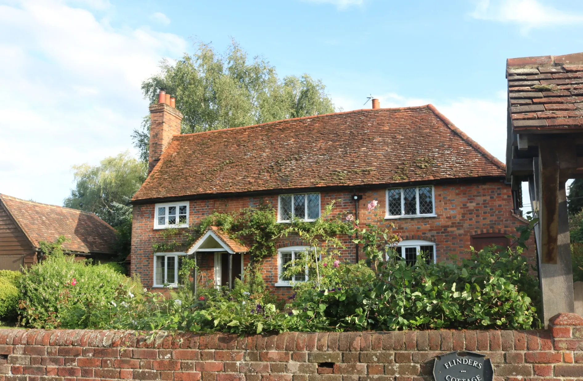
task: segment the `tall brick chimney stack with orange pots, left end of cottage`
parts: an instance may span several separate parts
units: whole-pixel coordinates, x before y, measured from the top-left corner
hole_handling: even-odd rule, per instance
[[[176,99],[160,90],[158,103],[150,104],[150,150],[148,159],[148,173],[160,160],[162,152],[172,140],[173,135],[180,135],[182,113],[176,108]]]

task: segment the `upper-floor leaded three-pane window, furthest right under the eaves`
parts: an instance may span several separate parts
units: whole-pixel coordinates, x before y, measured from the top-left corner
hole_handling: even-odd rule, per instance
[[[387,189],[385,218],[435,216],[433,186]]]

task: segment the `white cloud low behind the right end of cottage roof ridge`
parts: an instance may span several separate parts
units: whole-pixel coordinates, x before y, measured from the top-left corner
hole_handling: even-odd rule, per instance
[[[454,102],[441,102],[431,99],[408,98],[395,93],[374,95],[382,108],[423,106],[432,103],[444,116],[460,130],[469,135],[488,152],[505,161],[506,155],[506,102],[496,95],[493,99],[459,99]],[[336,107],[344,111],[370,109],[370,101],[363,105],[363,100],[341,96],[332,96]],[[366,98],[364,99],[366,100]]]

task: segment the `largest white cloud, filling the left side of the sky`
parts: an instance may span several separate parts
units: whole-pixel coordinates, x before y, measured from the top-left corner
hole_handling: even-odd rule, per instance
[[[0,193],[61,204],[72,165],[131,147],[147,114],[141,82],[186,47],[147,27],[113,29],[58,0],[0,5]]]

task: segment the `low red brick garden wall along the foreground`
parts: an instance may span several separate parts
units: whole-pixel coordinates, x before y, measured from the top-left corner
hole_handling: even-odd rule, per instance
[[[0,381],[414,381],[436,356],[476,351],[494,380],[583,380],[583,318],[547,331],[265,335],[0,330]]]

